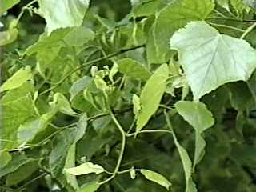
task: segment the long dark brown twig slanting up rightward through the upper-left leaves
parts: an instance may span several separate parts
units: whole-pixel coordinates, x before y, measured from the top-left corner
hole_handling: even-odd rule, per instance
[[[113,58],[114,56],[118,56],[119,54],[126,53],[127,51],[130,51],[130,50],[136,50],[136,49],[144,47],[144,46],[145,45],[134,46],[134,47],[131,47],[131,48],[128,48],[128,49],[119,50],[119,51],[117,51],[117,52],[115,52],[113,54],[108,54],[108,55],[106,55],[106,56],[104,56],[102,58],[97,58],[97,59],[94,59],[93,61],[83,63],[81,66],[78,66],[74,70],[71,70],[70,73],[66,74],[66,76],[64,78],[62,78],[59,82],[57,82],[55,86],[51,86],[49,89],[42,91],[42,93],[40,93],[40,95],[46,94],[46,93],[50,92],[51,90],[56,89],[58,86],[60,86],[62,84],[62,82],[65,82],[66,79],[69,78],[72,74],[74,74],[78,70],[81,70],[85,66],[90,66],[91,64],[94,64],[95,62],[101,62],[101,61],[103,61],[103,60],[105,60],[107,58]]]

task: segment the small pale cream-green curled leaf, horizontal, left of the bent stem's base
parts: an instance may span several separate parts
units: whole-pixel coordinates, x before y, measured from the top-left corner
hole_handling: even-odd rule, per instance
[[[92,174],[92,173],[101,174],[105,170],[102,166],[95,165],[92,162],[85,162],[85,163],[82,163],[82,165],[80,166],[76,166],[70,169],[65,169],[65,171],[68,174],[72,174],[72,175],[82,175],[82,174]]]

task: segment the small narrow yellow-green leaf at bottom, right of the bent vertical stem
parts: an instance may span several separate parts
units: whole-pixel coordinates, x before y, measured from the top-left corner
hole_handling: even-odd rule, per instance
[[[162,174],[158,174],[152,170],[140,170],[141,173],[150,181],[156,182],[161,186],[166,187],[167,190],[170,190],[171,183],[162,176]]]

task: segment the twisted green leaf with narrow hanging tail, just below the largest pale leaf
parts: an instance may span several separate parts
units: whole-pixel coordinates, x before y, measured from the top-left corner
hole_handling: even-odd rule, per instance
[[[185,102],[180,101],[175,104],[178,114],[189,122],[196,131],[195,151],[194,151],[194,167],[200,162],[204,154],[206,142],[202,138],[202,132],[214,125],[213,114],[206,108],[202,102]]]

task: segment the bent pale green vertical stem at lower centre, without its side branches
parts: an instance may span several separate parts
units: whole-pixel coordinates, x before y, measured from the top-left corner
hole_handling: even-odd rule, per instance
[[[120,131],[120,133],[122,134],[122,146],[121,146],[121,151],[118,157],[118,162],[117,165],[114,169],[114,174],[118,173],[118,170],[120,168],[121,162],[122,162],[122,158],[125,152],[125,147],[126,147],[126,132],[122,129],[122,126],[120,125],[120,123],[118,122],[118,119],[115,118],[113,112],[110,110],[110,115],[111,118],[113,119],[114,123],[116,126],[118,126],[118,130]]]

